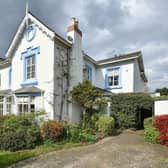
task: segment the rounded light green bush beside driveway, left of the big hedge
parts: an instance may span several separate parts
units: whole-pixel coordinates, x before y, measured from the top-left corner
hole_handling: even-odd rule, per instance
[[[96,122],[98,132],[104,135],[111,135],[114,129],[114,119],[105,115],[101,115]]]

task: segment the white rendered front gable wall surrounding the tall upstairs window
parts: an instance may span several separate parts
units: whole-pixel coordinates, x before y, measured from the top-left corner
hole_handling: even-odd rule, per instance
[[[21,88],[23,81],[23,60],[21,60],[22,52],[29,47],[40,47],[40,54],[36,55],[36,77],[38,85],[36,87],[44,91],[44,108],[49,114],[49,118],[53,118],[53,58],[54,58],[54,42],[47,35],[37,28],[36,36],[31,42],[27,42],[24,35],[21,38],[19,46],[12,59],[12,90]],[[42,104],[41,104],[42,108]]]

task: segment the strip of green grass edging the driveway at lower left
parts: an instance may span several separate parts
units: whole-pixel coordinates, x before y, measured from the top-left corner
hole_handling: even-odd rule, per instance
[[[48,152],[56,151],[59,149],[67,149],[71,147],[88,145],[90,143],[60,143],[60,144],[44,144],[32,150],[23,150],[17,152],[0,151],[0,168],[6,168],[21,160],[31,157],[39,156]]]

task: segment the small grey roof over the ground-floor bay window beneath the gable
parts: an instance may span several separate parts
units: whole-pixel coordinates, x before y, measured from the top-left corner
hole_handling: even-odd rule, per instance
[[[23,87],[23,88],[17,89],[13,93],[24,94],[24,93],[42,93],[42,92],[44,91],[35,86],[31,86],[31,87]]]

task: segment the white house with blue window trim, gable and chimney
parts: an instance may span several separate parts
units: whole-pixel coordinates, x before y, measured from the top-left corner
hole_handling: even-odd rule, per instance
[[[78,122],[69,92],[85,79],[114,93],[144,92],[142,54],[96,61],[82,50],[75,18],[65,40],[29,12],[0,60],[0,114],[45,111],[49,119]]]

